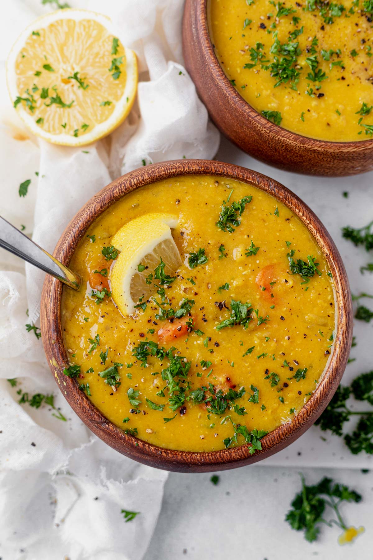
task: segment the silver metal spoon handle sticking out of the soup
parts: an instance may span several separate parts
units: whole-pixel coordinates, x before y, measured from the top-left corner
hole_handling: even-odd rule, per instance
[[[31,241],[29,237],[22,234],[20,230],[12,226],[0,216],[0,247],[10,251],[34,267],[44,270],[73,290],[78,290],[81,285],[81,278],[69,268],[65,267],[54,256],[47,253],[44,249]]]

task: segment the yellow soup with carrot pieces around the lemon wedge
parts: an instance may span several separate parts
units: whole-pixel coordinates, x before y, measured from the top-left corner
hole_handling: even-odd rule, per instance
[[[102,276],[117,257],[106,248],[154,211],[177,217],[182,264],[171,280],[160,275],[163,284],[154,274],[153,296],[125,317]],[[151,444],[212,451],[248,442],[254,452],[303,407],[332,353],[322,251],[290,209],[245,183],[181,176],[137,189],[97,218],[70,266],[87,290],[63,290],[65,373]]]

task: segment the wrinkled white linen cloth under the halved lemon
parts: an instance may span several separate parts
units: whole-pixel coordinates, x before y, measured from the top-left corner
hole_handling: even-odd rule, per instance
[[[182,0],[70,4],[112,18],[117,36],[138,55],[139,87],[126,122],[83,148],[88,153],[39,141],[8,100],[4,60],[23,28],[51,8],[39,0],[13,0],[4,10],[0,214],[50,252],[78,209],[142,160],[212,158],[219,146],[182,66]],[[26,179],[29,191],[20,198],[18,186]],[[139,560],[157,522],[167,473],[103,444],[56,389],[41,340],[25,328],[39,325],[43,279],[39,270],[0,250],[0,557]],[[7,381],[13,378],[16,386]],[[18,404],[24,392],[53,393],[56,409]],[[59,412],[66,421],[57,418]],[[125,522],[122,509],[140,514]]]

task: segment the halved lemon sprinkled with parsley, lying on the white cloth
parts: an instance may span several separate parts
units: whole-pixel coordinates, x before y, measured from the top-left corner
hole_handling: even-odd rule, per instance
[[[87,10],[39,17],[7,60],[11,100],[30,130],[54,144],[83,146],[123,122],[138,82],[135,53],[111,21]]]

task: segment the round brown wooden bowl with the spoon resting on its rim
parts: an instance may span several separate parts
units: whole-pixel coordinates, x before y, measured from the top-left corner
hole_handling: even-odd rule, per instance
[[[247,445],[211,452],[173,451],[150,445],[135,437],[125,435],[124,431],[105,418],[83,391],[78,389],[78,384],[74,379],[63,374],[64,367],[67,367],[69,363],[63,343],[60,319],[63,285],[48,275],[45,277],[41,295],[41,336],[51,372],[55,376],[60,390],[79,418],[93,433],[120,453],[140,461],[140,463],[180,472],[210,472],[256,463],[256,461],[284,449],[315,422],[336,391],[346,367],[352,340],[352,302],[341,255],[327,230],[310,208],[277,181],[256,171],[218,161],[168,161],[141,167],[113,181],[89,200],[76,214],[60,237],[54,256],[63,264],[68,265],[79,240],[86,235],[91,223],[126,193],[159,179],[190,174],[213,174],[237,179],[255,185],[273,195],[290,208],[308,227],[322,249],[333,274],[338,310],[334,349],[318,388],[292,422],[283,424],[268,433],[261,440],[262,451],[257,451],[254,455],[249,454]]]

